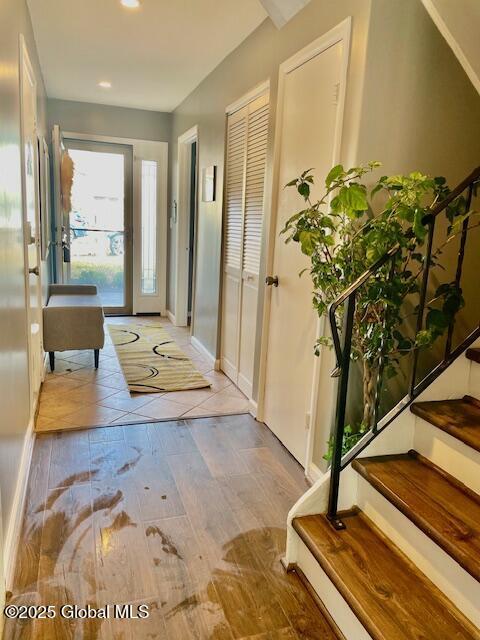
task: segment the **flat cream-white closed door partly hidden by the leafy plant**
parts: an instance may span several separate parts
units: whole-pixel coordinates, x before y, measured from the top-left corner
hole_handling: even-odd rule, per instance
[[[306,57],[284,76],[280,94],[278,166],[275,184],[276,229],[270,286],[270,321],[264,390],[264,420],[301,463],[305,464],[306,425],[312,394],[317,317],[312,307],[309,266],[296,243],[280,236],[288,218],[302,208],[293,189],[284,189],[302,171],[314,167],[312,198],[323,189],[331,168],[337,102],[343,58],[343,41]]]

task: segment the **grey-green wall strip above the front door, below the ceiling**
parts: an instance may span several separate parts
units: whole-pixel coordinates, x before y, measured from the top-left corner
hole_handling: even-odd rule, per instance
[[[171,113],[48,99],[48,127],[114,138],[169,142]]]

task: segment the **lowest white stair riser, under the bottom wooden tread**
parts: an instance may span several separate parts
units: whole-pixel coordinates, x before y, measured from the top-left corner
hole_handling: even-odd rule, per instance
[[[295,535],[298,535],[295,533]],[[302,540],[298,544],[297,564],[328,609],[346,640],[372,640],[327,574]]]

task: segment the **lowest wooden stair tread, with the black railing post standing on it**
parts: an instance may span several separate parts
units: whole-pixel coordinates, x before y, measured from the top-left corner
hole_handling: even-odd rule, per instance
[[[475,627],[358,510],[336,531],[324,515],[293,527],[374,640],[478,640]]]

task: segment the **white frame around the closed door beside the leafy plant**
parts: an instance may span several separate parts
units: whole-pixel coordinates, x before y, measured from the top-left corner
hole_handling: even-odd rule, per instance
[[[266,250],[266,273],[271,274],[273,269],[275,243],[283,242],[282,239],[276,237],[276,223],[277,223],[277,208],[278,208],[278,190],[279,190],[279,174],[280,174],[280,150],[281,150],[281,125],[283,119],[283,102],[285,95],[285,80],[289,73],[297,69],[302,64],[305,64],[315,56],[319,55],[326,49],[334,46],[338,42],[344,43],[342,69],[341,69],[341,81],[340,90],[338,93],[338,109],[337,120],[335,125],[333,153],[332,153],[332,166],[340,162],[341,154],[341,142],[342,142],[342,130],[343,130],[343,114],[345,107],[345,94],[347,87],[347,73],[348,63],[350,58],[350,39],[352,30],[352,19],[349,16],[337,26],[333,27],[330,31],[320,36],[309,45],[298,51],[291,58],[288,58],[280,65],[279,68],[279,81],[278,81],[278,98],[277,98],[277,115],[275,124],[275,146],[273,157],[273,180],[272,180],[272,199],[271,199],[271,215],[268,221],[268,234],[267,234],[267,250]],[[333,96],[332,96],[333,98]],[[270,327],[270,288],[265,287],[264,292],[264,307],[263,307],[263,319],[262,319],[262,338],[260,348],[260,362],[259,362],[259,387],[258,387],[258,410],[257,419],[262,421],[264,419],[265,409],[265,382],[266,382],[266,369],[267,369],[267,356],[268,356],[268,337]],[[317,336],[323,335],[325,327],[325,318],[319,318],[317,323]],[[313,355],[312,345],[312,358],[314,358],[314,369],[312,377],[311,387],[311,400],[310,400],[310,424],[307,447],[305,452],[305,473],[310,473],[310,467],[312,463],[313,452],[313,440],[314,432],[313,428],[317,422],[318,416],[318,385],[321,368],[321,355],[316,357]]]

